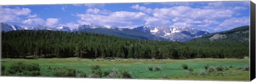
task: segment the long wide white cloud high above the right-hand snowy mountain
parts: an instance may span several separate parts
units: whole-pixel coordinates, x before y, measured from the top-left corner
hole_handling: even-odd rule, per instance
[[[154,17],[161,19],[189,18],[189,19],[218,19],[232,17],[233,12],[227,9],[193,9],[188,6],[175,6],[154,9]]]

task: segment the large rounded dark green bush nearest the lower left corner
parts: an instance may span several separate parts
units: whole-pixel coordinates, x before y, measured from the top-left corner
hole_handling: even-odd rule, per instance
[[[39,76],[40,68],[39,64],[35,63],[14,63],[10,66],[10,69],[7,71],[10,75],[14,76]]]

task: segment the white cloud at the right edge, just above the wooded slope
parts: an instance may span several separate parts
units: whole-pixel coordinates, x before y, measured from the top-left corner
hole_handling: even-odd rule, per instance
[[[240,26],[245,26],[250,24],[250,18],[249,17],[242,17],[242,18],[230,18],[222,23],[219,24],[220,27],[223,28],[235,28]]]

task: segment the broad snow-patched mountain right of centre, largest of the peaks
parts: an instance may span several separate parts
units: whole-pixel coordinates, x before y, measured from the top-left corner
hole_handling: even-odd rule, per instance
[[[186,42],[188,40],[202,37],[203,35],[210,34],[207,31],[202,31],[194,28],[172,28],[172,27],[151,27],[142,26],[134,28],[134,30],[143,31],[149,34],[156,35],[172,41]]]

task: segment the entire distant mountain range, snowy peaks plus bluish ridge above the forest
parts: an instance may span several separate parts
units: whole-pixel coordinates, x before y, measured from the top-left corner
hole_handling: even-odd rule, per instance
[[[136,39],[148,39],[148,40],[171,40],[171,41],[178,41],[178,42],[187,42],[189,40],[195,40],[195,38],[204,38],[201,40],[212,37],[225,37],[222,36],[220,33],[213,33],[195,29],[195,28],[172,28],[172,27],[153,27],[153,26],[141,26],[135,27],[133,29],[128,28],[118,28],[116,26],[96,26],[94,24],[83,24],[77,26],[75,29],[70,29],[66,26],[59,26],[59,27],[46,27],[41,25],[36,25],[34,27],[26,27],[26,26],[17,26],[7,23],[1,23],[2,31],[12,31],[12,30],[54,30],[54,31],[67,31],[67,32],[92,32],[97,34],[106,34],[106,35],[113,35],[118,37],[126,37],[126,38],[136,38]],[[249,30],[249,29],[248,29]],[[207,36],[206,36],[207,35]],[[210,40],[215,40],[212,37]],[[198,39],[196,39],[198,40]]]

